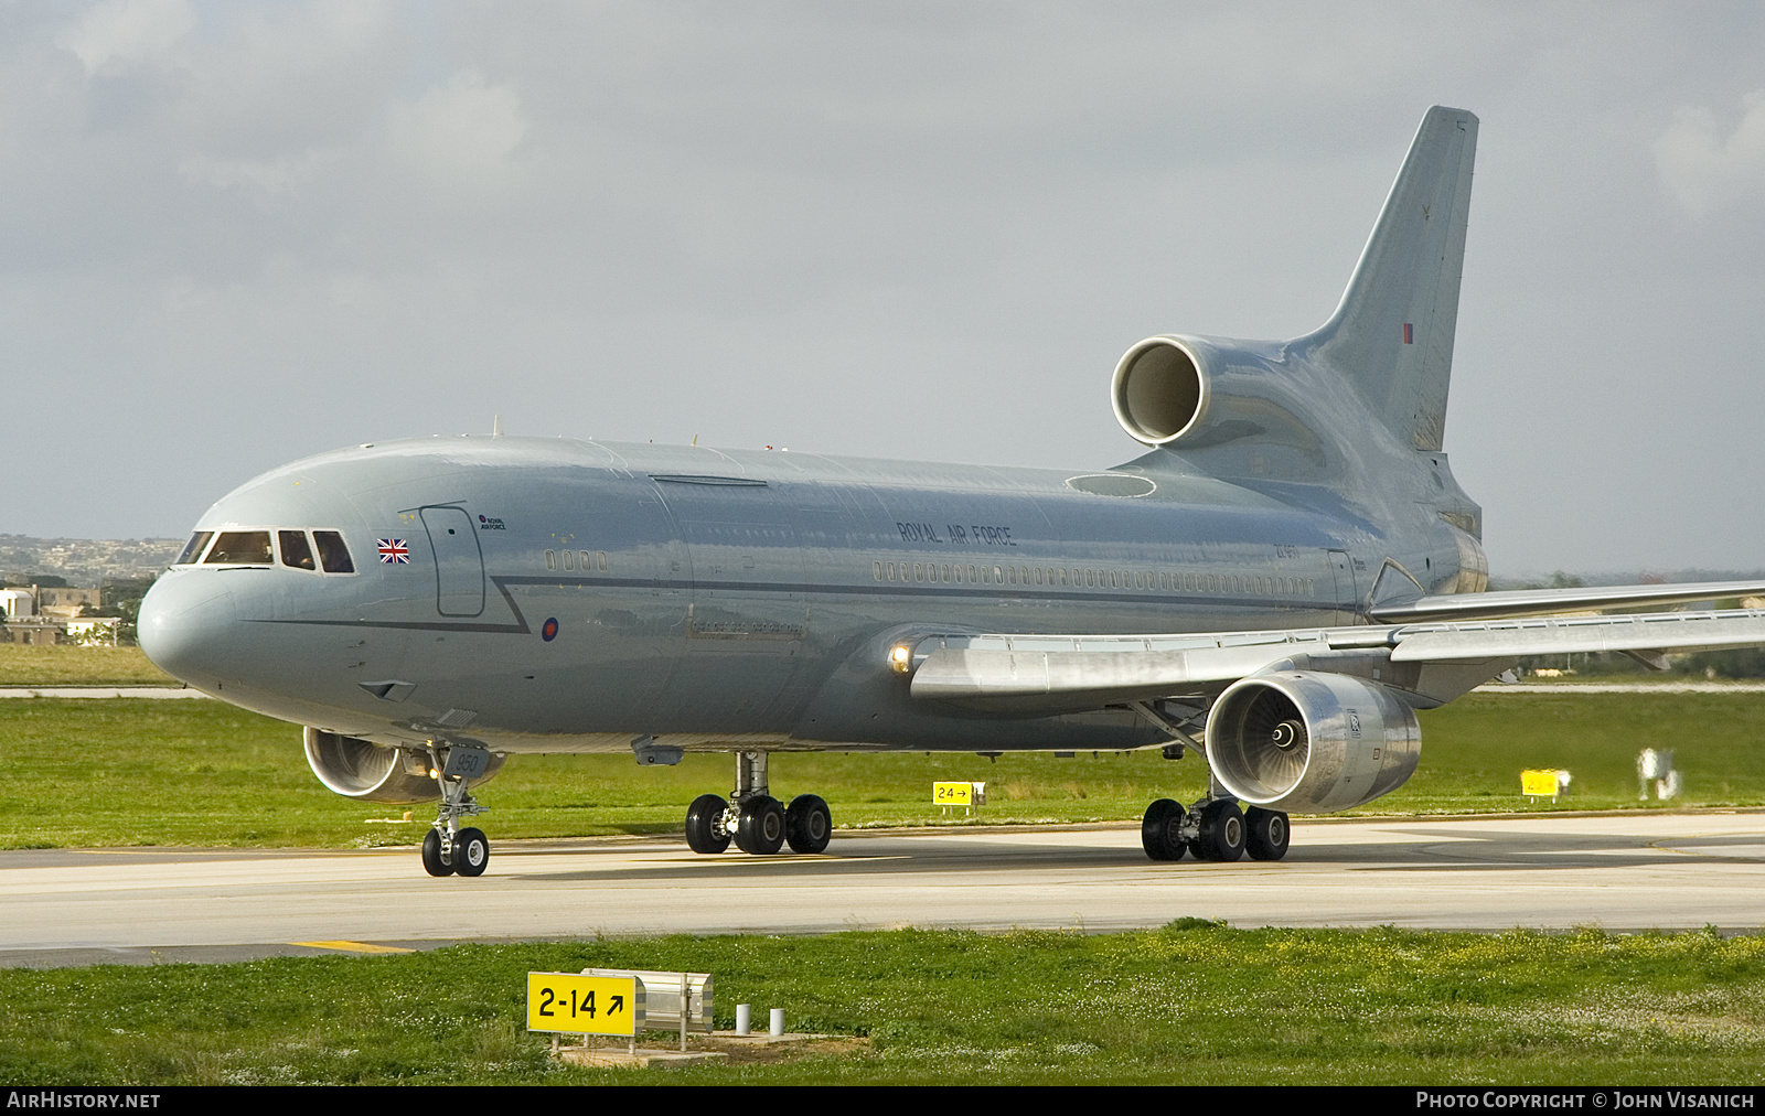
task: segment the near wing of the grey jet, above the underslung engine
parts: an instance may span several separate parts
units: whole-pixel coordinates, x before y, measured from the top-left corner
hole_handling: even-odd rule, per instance
[[[934,636],[913,653],[911,694],[994,712],[1061,712],[1198,698],[1276,671],[1334,671],[1435,706],[1521,655],[1622,652],[1664,669],[1664,652],[1765,645],[1765,609],[1536,616],[1290,632],[1170,636]]]

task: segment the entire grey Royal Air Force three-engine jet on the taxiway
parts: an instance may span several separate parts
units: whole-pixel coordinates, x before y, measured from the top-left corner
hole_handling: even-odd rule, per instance
[[[1280,858],[1287,812],[1405,782],[1417,708],[1520,655],[1765,643],[1765,584],[1488,593],[1440,452],[1477,118],[1423,118],[1341,305],[1294,341],[1158,336],[1115,366],[1149,452],[1093,471],[431,438],[222,496],[141,606],[168,673],[305,728],[319,780],[434,802],[424,865],[477,876],[471,789],[521,752],[734,752],[687,841],[828,846],[768,793],[791,750],[1205,754],[1154,860]],[[1566,616],[1562,613],[1578,613]],[[1239,803],[1248,805],[1241,809]]]

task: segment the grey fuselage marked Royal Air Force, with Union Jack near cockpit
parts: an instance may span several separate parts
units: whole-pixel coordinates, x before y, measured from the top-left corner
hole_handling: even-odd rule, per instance
[[[913,701],[888,650],[962,632],[1354,623],[1387,558],[1428,588],[1458,577],[1461,539],[1408,491],[1350,503],[1168,452],[1075,473],[394,441],[217,501],[198,532],[265,532],[274,553],[173,567],[154,588],[150,650],[228,701],[378,743],[1142,747],[1168,735],[1126,710],[1022,719]],[[291,565],[288,532],[339,533],[353,572]]]

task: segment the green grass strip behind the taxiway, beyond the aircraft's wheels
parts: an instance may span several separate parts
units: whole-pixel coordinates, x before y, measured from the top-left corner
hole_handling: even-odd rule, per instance
[[[1765,805],[1765,698],[1758,694],[1470,696],[1423,715],[1416,777],[1357,814],[1638,809],[1634,756],[1671,745],[1686,791],[1661,805]],[[492,839],[680,832],[687,803],[727,793],[727,756],[641,768],[628,756],[515,756],[482,791]],[[1528,802],[1520,772],[1574,775],[1558,803]],[[780,798],[814,791],[840,826],[962,825],[930,805],[937,779],[985,780],[981,821],[1124,821],[1147,802],[1202,793],[1204,766],[1158,752],[893,756],[782,754]],[[115,844],[409,844],[432,807],[358,803],[323,789],[300,733],[219,701],[0,701],[0,848]]]

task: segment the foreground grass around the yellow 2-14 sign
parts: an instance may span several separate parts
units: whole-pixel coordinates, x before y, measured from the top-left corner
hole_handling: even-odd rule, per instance
[[[710,971],[844,1054],[671,1072],[561,1067],[524,973]],[[281,1082],[1765,1081],[1765,938],[955,931],[466,945],[397,957],[0,971],[0,1077]]]

